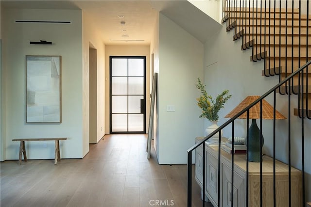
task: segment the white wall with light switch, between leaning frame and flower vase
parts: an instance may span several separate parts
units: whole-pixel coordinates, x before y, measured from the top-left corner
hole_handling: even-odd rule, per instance
[[[187,163],[187,149],[202,136],[195,83],[203,76],[203,44],[159,15],[159,137],[160,164]],[[175,111],[167,111],[173,105]]]

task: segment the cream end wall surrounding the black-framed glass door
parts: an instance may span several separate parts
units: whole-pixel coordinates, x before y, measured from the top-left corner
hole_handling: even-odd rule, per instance
[[[148,133],[148,123],[149,123],[149,112],[150,112],[150,46],[105,46],[105,58],[106,58],[106,78],[105,78],[105,87],[106,87],[106,125],[105,130],[106,134],[110,133],[109,129],[109,57],[110,56],[146,56],[146,133]]]

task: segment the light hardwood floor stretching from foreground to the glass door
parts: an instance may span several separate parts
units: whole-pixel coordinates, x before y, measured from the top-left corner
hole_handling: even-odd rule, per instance
[[[0,206],[150,207],[158,200],[186,207],[187,165],[158,165],[154,149],[148,160],[146,137],[105,135],[85,158],[57,165],[53,159],[1,162]],[[201,189],[192,183],[192,206],[201,207]]]

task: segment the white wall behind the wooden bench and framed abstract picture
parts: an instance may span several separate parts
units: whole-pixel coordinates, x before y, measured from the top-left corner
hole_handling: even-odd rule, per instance
[[[15,23],[15,20],[70,20],[71,24]],[[61,141],[62,158],[82,158],[82,14],[80,10],[5,9],[2,31],[1,160],[18,159],[13,138],[67,137]],[[47,40],[52,45],[30,45]],[[26,124],[26,55],[62,56],[62,123]],[[28,159],[53,159],[54,143],[26,143]]]

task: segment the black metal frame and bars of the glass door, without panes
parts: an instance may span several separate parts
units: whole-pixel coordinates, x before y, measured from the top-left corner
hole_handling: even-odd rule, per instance
[[[144,86],[143,86],[143,97],[144,97],[144,113],[143,113],[143,131],[112,131],[112,59],[143,59],[144,62]],[[129,76],[127,76],[129,77]],[[128,96],[128,94],[127,94]],[[146,133],[146,56],[109,56],[109,131],[110,134],[145,134]],[[128,103],[127,103],[128,106]],[[128,111],[127,111],[127,114]]]

